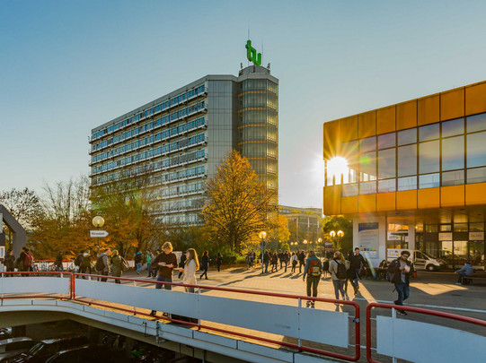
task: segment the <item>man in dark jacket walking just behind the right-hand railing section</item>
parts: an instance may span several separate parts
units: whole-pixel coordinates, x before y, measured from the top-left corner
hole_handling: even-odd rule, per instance
[[[395,285],[398,298],[393,301],[395,305],[403,306],[403,301],[410,297],[410,276],[413,273],[413,264],[410,260],[410,252],[402,251],[400,257],[393,260],[386,271],[386,280]],[[407,315],[404,310],[397,310],[400,315]]]

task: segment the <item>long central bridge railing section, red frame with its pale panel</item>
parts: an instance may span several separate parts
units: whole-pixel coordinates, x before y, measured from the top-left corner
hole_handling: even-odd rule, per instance
[[[278,344],[338,359],[355,361],[360,357],[359,306],[352,301],[104,275],[79,273],[74,275],[87,279],[74,279],[73,298],[76,301],[138,315],[150,315],[150,310],[163,311],[169,315],[159,313],[158,318],[197,326],[199,329]],[[102,278],[131,283],[113,284],[93,280]],[[180,287],[181,290],[143,288],[153,287],[154,284]],[[186,287],[194,288],[195,293],[184,292]],[[232,298],[210,295],[209,291],[224,292],[226,295],[231,293]],[[260,296],[263,301],[234,298],[234,294]],[[280,302],[287,301],[287,304],[264,301],[276,298]],[[305,304],[308,300],[314,300],[318,308],[304,307],[303,302]],[[350,307],[351,316],[348,312],[335,311],[334,304]],[[325,307],[332,307],[332,310],[325,310]],[[178,320],[176,315],[193,318],[193,321],[198,323]],[[351,319],[354,329],[349,329]],[[231,330],[226,326],[231,327]],[[252,332],[247,332],[246,329]],[[259,334],[259,332],[267,334]],[[351,343],[350,337],[353,339]],[[334,351],[327,350],[330,347]],[[336,347],[339,347],[343,353],[337,353]],[[347,350],[349,351],[349,347],[354,349],[354,355],[345,354]]]

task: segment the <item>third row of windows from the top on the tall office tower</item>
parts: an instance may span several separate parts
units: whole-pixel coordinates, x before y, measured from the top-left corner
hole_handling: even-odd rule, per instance
[[[119,154],[122,154],[124,152],[132,151],[137,149],[138,147],[143,147],[145,145],[148,145],[150,143],[155,143],[157,141],[165,140],[169,137],[172,137],[177,134],[181,134],[184,132],[190,132],[192,130],[197,129],[198,127],[205,125],[205,119],[204,117],[200,117],[197,120],[192,120],[190,122],[172,127],[170,129],[164,130],[162,133],[159,134],[153,134],[150,136],[147,136],[144,139],[137,140],[133,143],[128,143],[119,146],[118,148],[112,149],[110,151],[102,152],[97,155],[94,155],[92,158],[92,162],[95,163],[100,160],[105,160],[111,157],[118,156]]]

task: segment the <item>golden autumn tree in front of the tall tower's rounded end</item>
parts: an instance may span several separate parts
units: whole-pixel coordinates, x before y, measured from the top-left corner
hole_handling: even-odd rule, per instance
[[[275,210],[277,193],[258,181],[246,158],[232,151],[207,183],[202,214],[215,243],[241,251],[243,243],[271,228],[268,216]],[[218,242],[219,241],[219,242]]]

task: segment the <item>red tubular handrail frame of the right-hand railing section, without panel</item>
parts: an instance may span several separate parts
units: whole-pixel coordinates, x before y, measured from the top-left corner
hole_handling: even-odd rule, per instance
[[[382,303],[370,303],[367,305],[367,361],[370,363],[380,363],[371,357],[371,309],[373,307],[384,307],[396,310],[410,311],[411,313],[433,315],[438,317],[444,317],[446,319],[457,320],[464,323],[476,324],[486,327],[486,321],[481,319],[476,319],[473,317],[455,315],[450,313],[443,313],[435,310],[422,309],[420,307],[402,307],[393,304],[382,304]]]

